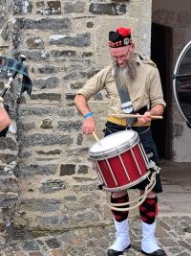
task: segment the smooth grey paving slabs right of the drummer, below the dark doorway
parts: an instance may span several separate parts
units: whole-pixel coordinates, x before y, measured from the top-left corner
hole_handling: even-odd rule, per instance
[[[160,216],[191,216],[191,163],[163,160],[161,167]]]

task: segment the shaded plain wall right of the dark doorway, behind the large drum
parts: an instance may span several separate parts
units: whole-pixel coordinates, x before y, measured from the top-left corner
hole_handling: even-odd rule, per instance
[[[191,12],[188,8],[189,5],[189,0],[185,0],[183,5],[179,0],[153,1],[153,22],[168,26],[173,30],[173,71],[181,50],[191,39]],[[173,160],[177,162],[190,162],[190,128],[187,128],[180,114],[174,95],[172,97]]]

